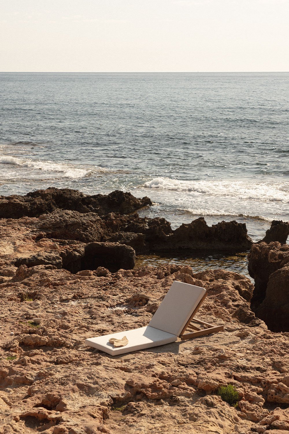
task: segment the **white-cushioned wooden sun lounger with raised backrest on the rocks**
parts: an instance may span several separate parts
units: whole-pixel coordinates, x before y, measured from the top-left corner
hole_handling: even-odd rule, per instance
[[[223,325],[214,326],[195,318],[195,313],[206,296],[206,290],[200,286],[175,281],[149,325],[85,339],[85,343],[110,355],[117,355],[169,344],[175,342],[178,337],[184,340],[220,332],[224,329]],[[115,348],[108,342],[111,338],[122,339],[124,335],[128,339],[126,346]]]

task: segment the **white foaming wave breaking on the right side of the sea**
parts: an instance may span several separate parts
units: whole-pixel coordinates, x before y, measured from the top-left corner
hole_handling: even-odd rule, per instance
[[[289,202],[289,182],[253,181],[180,181],[171,178],[153,178],[142,187],[172,191],[192,191],[208,196],[229,196],[255,201]]]

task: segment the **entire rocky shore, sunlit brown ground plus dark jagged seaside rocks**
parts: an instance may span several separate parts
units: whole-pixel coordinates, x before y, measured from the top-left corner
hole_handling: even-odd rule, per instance
[[[289,431],[289,224],[254,243],[245,224],[172,230],[115,191],[0,197],[0,433]],[[136,255],[248,251],[255,280]],[[146,325],[174,280],[203,286],[199,316],[224,332],[112,358],[84,345]],[[218,396],[234,385],[237,407]]]

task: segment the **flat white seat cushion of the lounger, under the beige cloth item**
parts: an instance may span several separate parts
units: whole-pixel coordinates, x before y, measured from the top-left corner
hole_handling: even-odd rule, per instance
[[[114,348],[108,340],[110,338],[122,339],[127,336],[128,344],[125,347]],[[141,350],[157,345],[169,344],[177,340],[176,335],[163,332],[147,325],[140,329],[126,330],[124,332],[112,333],[111,335],[98,336],[97,338],[85,339],[86,345],[107,352],[110,355],[125,354],[136,350]]]

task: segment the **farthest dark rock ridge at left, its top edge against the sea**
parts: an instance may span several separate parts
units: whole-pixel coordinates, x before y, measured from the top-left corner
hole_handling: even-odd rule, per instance
[[[0,218],[39,217],[56,209],[93,212],[97,215],[110,212],[129,214],[147,205],[152,205],[148,197],[137,199],[119,190],[108,195],[87,195],[69,188],[49,187],[25,196],[0,196]]]

